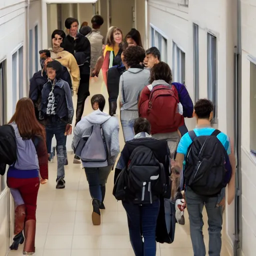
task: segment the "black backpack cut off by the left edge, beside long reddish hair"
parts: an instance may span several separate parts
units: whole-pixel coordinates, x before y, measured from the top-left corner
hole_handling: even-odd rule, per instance
[[[0,126],[0,174],[4,175],[6,164],[10,165],[17,159],[15,132],[11,125]]]

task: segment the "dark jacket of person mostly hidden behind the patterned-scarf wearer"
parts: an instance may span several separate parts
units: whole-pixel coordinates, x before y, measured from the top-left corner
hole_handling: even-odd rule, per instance
[[[72,92],[72,81],[70,74],[65,66],[62,66],[63,72],[61,72],[61,79],[66,81]],[[41,91],[43,85],[48,81],[48,77],[45,71],[39,70],[35,72],[30,79],[29,84],[29,98],[32,99],[34,103],[34,110],[36,118],[39,118],[39,106],[41,102]]]

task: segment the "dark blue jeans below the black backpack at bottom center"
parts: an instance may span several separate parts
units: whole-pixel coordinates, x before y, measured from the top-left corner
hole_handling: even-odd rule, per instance
[[[129,236],[135,256],[155,256],[155,228],[160,202],[138,205],[132,202],[122,202],[126,210]],[[142,237],[144,242],[142,241]]]

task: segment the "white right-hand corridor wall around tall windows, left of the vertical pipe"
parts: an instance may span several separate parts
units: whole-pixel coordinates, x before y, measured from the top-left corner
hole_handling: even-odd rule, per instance
[[[178,4],[179,3],[179,4]],[[217,110],[215,124],[233,140],[234,136],[234,45],[236,39],[236,9],[231,0],[193,0],[189,7],[183,0],[149,0],[149,22],[167,37],[167,62],[172,68],[172,41],[185,52],[185,84],[194,98],[193,84],[193,23],[198,25],[199,97],[207,97],[207,32],[217,38]],[[255,13],[255,12],[254,12]],[[150,36],[150,27],[148,29]],[[151,39],[149,39],[151,46]],[[193,119],[186,119],[193,128]],[[234,205],[226,207],[223,235],[229,252],[234,241]]]

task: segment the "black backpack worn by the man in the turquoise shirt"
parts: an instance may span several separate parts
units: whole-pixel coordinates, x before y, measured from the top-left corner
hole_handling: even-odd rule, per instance
[[[196,136],[193,130],[188,132],[192,143],[185,157],[185,185],[199,195],[218,194],[231,177],[227,152],[217,138],[219,133],[217,129],[209,136]]]

